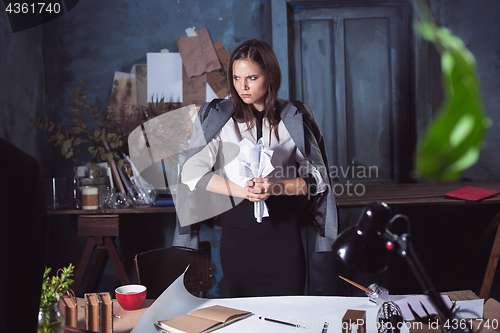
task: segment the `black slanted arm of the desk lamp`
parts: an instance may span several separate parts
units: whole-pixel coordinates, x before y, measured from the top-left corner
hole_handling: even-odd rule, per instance
[[[391,242],[397,245],[395,250],[398,255],[406,259],[406,262],[413,271],[413,274],[415,274],[418,283],[423,288],[424,294],[428,295],[432,303],[434,303],[434,306],[439,312],[438,314],[441,319],[443,319],[444,321],[446,321],[447,319],[453,319],[453,312],[444,303],[441,295],[439,295],[439,293],[437,292],[434,284],[431,282],[415,251],[413,250],[413,245],[410,241],[411,235],[402,234],[400,236],[396,236],[388,231],[386,231],[386,233],[388,234],[386,235],[386,238],[389,238]]]

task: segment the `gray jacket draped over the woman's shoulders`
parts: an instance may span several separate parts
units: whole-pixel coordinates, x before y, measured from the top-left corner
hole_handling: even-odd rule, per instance
[[[210,142],[233,115],[233,105],[230,99],[222,100],[219,103],[212,103],[212,107],[210,108],[208,107],[209,105],[210,103],[203,104],[198,113],[198,121],[201,123],[201,131],[203,132],[203,136],[200,136],[205,142]],[[298,204],[303,207],[304,213],[303,217],[301,217],[303,225],[312,226],[316,232],[316,252],[331,251],[332,243],[337,237],[338,219],[323,135],[319,129],[316,117],[309,106],[304,105],[304,108],[297,108],[290,101],[278,99],[278,109],[283,124],[290,133],[297,149],[321,173],[323,179],[329,185],[326,191],[322,193],[294,197],[297,197]],[[196,134],[193,133],[192,138],[195,137]],[[191,146],[196,146],[193,140]],[[187,159],[197,151],[199,149],[190,149]],[[186,188],[186,186],[183,187],[180,184],[178,187],[180,196],[177,200],[186,200],[189,202],[190,196],[194,192],[197,192],[189,191]],[[203,223],[212,226],[220,225],[217,217],[210,219],[210,221],[203,221]],[[199,223],[181,227],[178,220],[173,245],[198,249],[198,231]]]

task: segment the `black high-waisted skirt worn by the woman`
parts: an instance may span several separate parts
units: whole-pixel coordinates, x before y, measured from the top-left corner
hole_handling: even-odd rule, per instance
[[[270,197],[266,204],[270,216],[262,223],[248,200],[223,213],[220,256],[231,297],[304,294],[306,265],[293,197]]]

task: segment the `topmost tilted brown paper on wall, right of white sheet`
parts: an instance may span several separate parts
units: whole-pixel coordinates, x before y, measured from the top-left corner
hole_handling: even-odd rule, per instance
[[[207,28],[196,31],[195,37],[181,36],[175,40],[189,77],[221,68]]]

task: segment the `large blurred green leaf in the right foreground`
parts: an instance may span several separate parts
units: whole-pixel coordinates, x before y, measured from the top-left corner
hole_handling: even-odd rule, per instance
[[[476,64],[462,40],[433,20],[416,32],[441,54],[445,100],[418,143],[416,176],[428,181],[454,181],[479,158],[491,125],[482,101]]]

